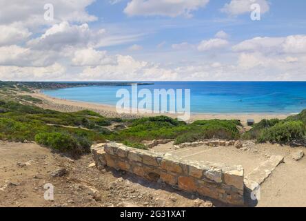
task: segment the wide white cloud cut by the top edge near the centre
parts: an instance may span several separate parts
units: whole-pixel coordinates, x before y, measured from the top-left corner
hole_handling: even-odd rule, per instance
[[[132,0],[124,9],[129,16],[192,17],[192,11],[205,7],[210,0]]]

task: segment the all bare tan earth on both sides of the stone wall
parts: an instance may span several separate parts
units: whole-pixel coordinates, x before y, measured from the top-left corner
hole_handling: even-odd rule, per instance
[[[283,155],[285,163],[261,185],[258,203],[249,206],[306,206],[306,158],[292,160],[294,148],[261,144],[240,150],[200,146],[174,151],[171,146],[159,145],[153,151],[184,155],[188,160],[241,164],[245,175],[270,155]],[[226,206],[131,174],[99,171],[89,167],[91,155],[71,160],[34,143],[0,142],[0,162],[0,206]],[[50,176],[61,168],[68,175]],[[48,183],[54,185],[54,201],[43,198]]]

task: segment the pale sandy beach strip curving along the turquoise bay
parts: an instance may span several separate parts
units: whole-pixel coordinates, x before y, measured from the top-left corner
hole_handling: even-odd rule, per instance
[[[34,93],[29,93],[28,95],[43,100],[43,104],[39,104],[42,108],[48,108],[54,111],[62,112],[73,112],[81,111],[88,109],[100,113],[105,117],[122,117],[125,119],[139,118],[139,117],[148,117],[148,116],[157,116],[157,115],[166,115],[169,117],[176,117],[174,114],[155,114],[155,113],[139,113],[139,114],[126,114],[126,113],[117,113],[116,107],[107,105],[107,104],[96,104],[90,102],[79,102],[72,101],[68,99],[59,99],[56,97],[50,97],[41,93],[40,90],[34,90]],[[190,121],[198,119],[239,119],[243,125],[247,124],[247,119],[254,119],[255,122],[260,122],[262,119],[285,119],[288,116],[293,114],[247,114],[247,113],[229,113],[229,114],[214,114],[214,113],[192,113]]]

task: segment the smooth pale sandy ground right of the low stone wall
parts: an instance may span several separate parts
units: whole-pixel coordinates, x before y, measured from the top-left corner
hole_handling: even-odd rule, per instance
[[[203,160],[242,165],[245,175],[253,171],[271,155],[282,155],[285,163],[280,164],[261,185],[260,199],[252,206],[306,206],[306,157],[296,162],[292,153],[306,148],[292,148],[278,144],[249,144],[245,148],[234,146],[198,146],[174,150],[172,143],[155,146],[152,151],[172,153],[186,160]],[[251,206],[251,205],[249,205]]]

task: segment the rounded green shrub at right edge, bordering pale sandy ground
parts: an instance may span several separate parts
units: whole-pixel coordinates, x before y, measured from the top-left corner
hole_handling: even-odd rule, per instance
[[[305,125],[303,122],[280,122],[271,128],[263,130],[257,141],[289,144],[290,142],[303,139],[304,136]]]

